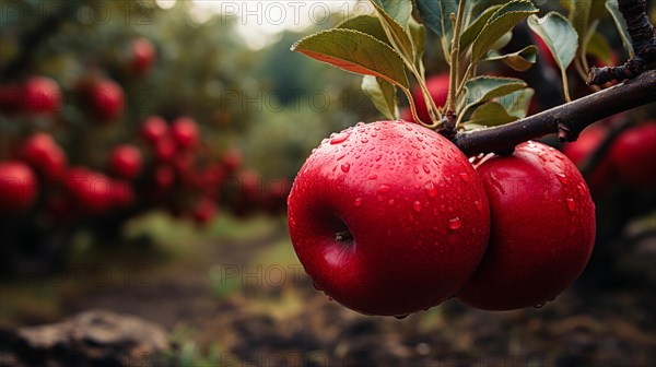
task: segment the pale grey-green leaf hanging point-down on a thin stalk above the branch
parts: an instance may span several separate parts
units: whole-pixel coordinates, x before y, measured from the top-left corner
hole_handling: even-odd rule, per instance
[[[543,17],[531,15],[528,19],[528,26],[547,44],[564,73],[574,60],[578,47],[578,35],[570,21],[557,12],[550,12]]]

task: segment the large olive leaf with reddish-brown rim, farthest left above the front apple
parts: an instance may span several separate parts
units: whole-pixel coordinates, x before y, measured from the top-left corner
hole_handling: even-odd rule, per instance
[[[403,92],[409,88],[401,56],[387,44],[359,31],[323,31],[298,40],[292,51],[350,72],[383,78],[403,87]]]

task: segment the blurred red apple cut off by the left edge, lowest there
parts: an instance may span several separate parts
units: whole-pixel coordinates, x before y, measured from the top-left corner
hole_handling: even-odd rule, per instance
[[[36,199],[36,176],[26,164],[0,162],[0,214],[28,210]]]

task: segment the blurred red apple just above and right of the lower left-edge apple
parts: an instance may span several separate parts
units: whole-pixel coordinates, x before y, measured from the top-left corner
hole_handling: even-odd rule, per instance
[[[67,158],[51,135],[38,132],[30,137],[21,149],[21,157],[46,180],[63,177]]]

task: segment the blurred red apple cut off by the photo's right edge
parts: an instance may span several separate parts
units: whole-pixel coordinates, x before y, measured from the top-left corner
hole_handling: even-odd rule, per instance
[[[656,120],[622,132],[610,159],[624,182],[637,188],[656,185]]]

